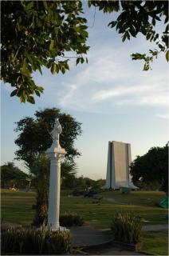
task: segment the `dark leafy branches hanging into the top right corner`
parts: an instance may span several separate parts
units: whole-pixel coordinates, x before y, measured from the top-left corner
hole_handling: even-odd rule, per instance
[[[88,1],[88,5],[95,6],[104,13],[120,11],[116,20],[109,22],[108,26],[116,27],[116,31],[122,34],[122,42],[136,38],[141,33],[147,41],[156,43],[158,50],[149,50],[149,55],[132,54],[133,60],[144,61],[143,70],[151,69],[150,62],[161,52],[165,53],[167,62],[169,61],[167,1]],[[155,30],[157,22],[165,24],[162,34]]]

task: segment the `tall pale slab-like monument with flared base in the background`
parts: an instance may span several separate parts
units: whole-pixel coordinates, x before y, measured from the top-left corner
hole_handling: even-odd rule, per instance
[[[121,186],[136,189],[132,184],[129,166],[132,162],[131,144],[108,142],[108,164],[104,188],[119,189]]]

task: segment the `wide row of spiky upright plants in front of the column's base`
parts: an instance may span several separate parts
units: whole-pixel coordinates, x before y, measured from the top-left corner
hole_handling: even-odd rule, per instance
[[[67,231],[10,228],[2,232],[2,254],[67,254],[72,242]]]

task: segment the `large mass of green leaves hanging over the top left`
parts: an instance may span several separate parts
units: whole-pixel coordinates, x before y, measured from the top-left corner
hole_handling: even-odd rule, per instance
[[[52,74],[69,70],[65,54],[77,62],[86,54],[87,20],[81,1],[2,1],[2,79],[15,87],[11,96],[34,103],[43,91],[31,74],[41,66]]]

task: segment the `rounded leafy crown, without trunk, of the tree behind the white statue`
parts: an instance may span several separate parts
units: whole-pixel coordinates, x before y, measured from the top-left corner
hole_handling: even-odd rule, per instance
[[[15,140],[19,149],[15,152],[18,160],[26,162],[30,168],[38,156],[52,144],[50,132],[53,130],[54,119],[59,118],[62,126],[60,136],[61,147],[65,148],[65,161],[73,162],[81,153],[74,147],[74,141],[81,135],[81,123],[69,114],[61,113],[57,108],[36,111],[34,118],[26,117],[16,122],[15,131],[19,132]]]

